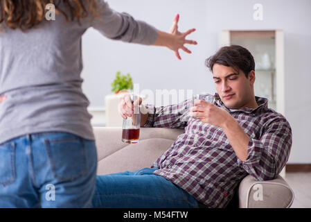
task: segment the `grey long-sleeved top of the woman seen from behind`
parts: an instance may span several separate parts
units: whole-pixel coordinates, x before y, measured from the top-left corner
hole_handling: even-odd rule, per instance
[[[98,6],[100,17],[92,20],[90,15],[80,24],[65,24],[59,14],[25,32],[5,28],[0,33],[0,95],[7,96],[0,103],[0,144],[48,131],[94,139],[89,101],[81,88],[83,33],[93,26],[106,37],[141,44],[152,44],[157,37],[152,26],[114,12],[104,1]],[[62,4],[60,8],[67,10]]]

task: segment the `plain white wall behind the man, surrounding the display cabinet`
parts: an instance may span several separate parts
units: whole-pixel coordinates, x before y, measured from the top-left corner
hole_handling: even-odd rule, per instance
[[[90,29],[83,37],[85,79],[83,89],[91,106],[103,106],[105,94],[116,71],[130,73],[140,89],[194,89],[215,92],[204,60],[218,48],[222,29],[276,29],[285,33],[285,117],[292,126],[292,163],[311,163],[308,142],[311,126],[311,1],[282,0],[114,0],[108,1],[118,11],[126,11],[156,28],[168,31],[179,13],[179,29],[197,28],[189,38],[193,55],[181,52],[182,60],[168,49],[139,46],[107,40]],[[254,3],[263,4],[263,21],[253,19]]]

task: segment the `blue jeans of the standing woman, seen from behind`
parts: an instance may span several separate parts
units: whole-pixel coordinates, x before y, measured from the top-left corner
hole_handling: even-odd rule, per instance
[[[91,207],[94,140],[35,133],[0,144],[0,207]]]

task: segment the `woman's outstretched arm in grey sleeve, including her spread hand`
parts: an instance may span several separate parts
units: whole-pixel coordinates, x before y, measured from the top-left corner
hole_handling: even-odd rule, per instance
[[[170,33],[166,33],[157,30],[146,22],[134,19],[125,12],[116,12],[105,1],[99,1],[98,6],[101,9],[100,16],[91,21],[91,26],[109,39],[136,44],[166,46],[175,52],[179,60],[181,59],[179,49],[191,53],[184,44],[197,44],[193,40],[186,40],[186,36],[193,33],[195,28],[184,33],[178,31],[179,15],[175,16]]]

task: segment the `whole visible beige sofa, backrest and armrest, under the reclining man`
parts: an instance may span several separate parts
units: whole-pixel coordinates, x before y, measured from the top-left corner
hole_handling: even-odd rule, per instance
[[[94,127],[98,149],[98,174],[134,171],[150,167],[184,130],[171,128],[141,128],[139,144],[121,142],[120,127]],[[275,180],[255,181],[245,177],[238,187],[231,207],[290,207],[294,192],[278,176]]]

